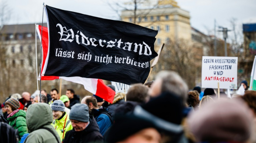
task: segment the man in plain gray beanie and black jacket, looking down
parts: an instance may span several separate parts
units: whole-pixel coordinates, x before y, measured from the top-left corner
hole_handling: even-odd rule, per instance
[[[71,107],[69,119],[73,130],[66,133],[64,143],[101,142],[103,137],[93,116],[89,116],[86,104],[77,103]]]

